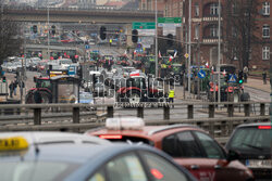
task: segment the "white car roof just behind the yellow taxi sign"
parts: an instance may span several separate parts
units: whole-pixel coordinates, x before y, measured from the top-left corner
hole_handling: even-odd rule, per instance
[[[53,131],[29,131],[29,132],[1,132],[0,138],[24,137],[28,144],[53,144],[53,143],[74,143],[74,144],[111,144],[107,140],[97,137],[87,137],[79,133],[53,132]]]

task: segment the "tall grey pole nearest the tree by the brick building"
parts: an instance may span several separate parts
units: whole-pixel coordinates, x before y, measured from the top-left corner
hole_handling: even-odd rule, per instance
[[[221,98],[220,98],[220,95],[221,95],[221,91],[220,91],[220,89],[221,89],[221,85],[220,85],[220,79],[221,79],[221,60],[220,60],[220,57],[221,57],[221,0],[219,0],[219,29],[218,29],[218,36],[219,36],[219,48],[218,48],[218,50],[219,50],[219,52],[218,52],[218,72],[219,72],[219,77],[218,77],[218,102],[220,103],[220,101],[221,101]]]

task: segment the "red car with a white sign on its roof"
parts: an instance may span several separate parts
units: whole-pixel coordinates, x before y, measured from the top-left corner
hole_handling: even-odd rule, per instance
[[[152,145],[172,156],[198,180],[254,180],[251,170],[236,160],[235,152],[226,153],[206,131],[193,125],[145,126],[140,118],[108,118],[106,128],[85,134]]]

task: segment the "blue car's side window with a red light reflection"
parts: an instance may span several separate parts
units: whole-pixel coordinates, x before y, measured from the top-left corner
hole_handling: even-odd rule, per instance
[[[153,176],[154,181],[188,180],[186,174],[169,163],[169,160],[148,152],[144,152],[140,155],[143,155],[144,159],[147,161],[149,171],[151,176]]]

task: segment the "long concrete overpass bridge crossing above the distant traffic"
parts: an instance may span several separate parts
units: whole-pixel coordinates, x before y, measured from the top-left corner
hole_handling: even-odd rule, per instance
[[[115,9],[77,9],[77,8],[32,8],[4,7],[7,16],[16,22],[50,23],[91,23],[91,24],[132,24],[133,22],[154,22],[154,11],[115,10]],[[163,16],[158,12],[158,17]]]

